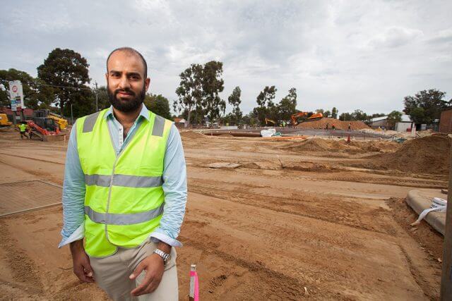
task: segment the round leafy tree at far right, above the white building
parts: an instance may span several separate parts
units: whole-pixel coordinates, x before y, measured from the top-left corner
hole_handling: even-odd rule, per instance
[[[435,119],[439,119],[441,111],[451,107],[452,99],[444,100],[445,95],[446,92],[436,89],[422,90],[417,92],[414,97],[404,97],[405,109],[403,111],[410,115],[415,123],[433,123]]]

